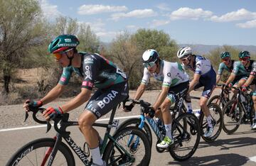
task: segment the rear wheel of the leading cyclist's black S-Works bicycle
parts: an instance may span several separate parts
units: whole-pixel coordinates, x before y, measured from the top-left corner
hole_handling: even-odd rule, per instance
[[[139,147],[134,149],[134,142],[132,145],[127,145],[127,143],[124,143],[125,145],[122,145],[121,141],[122,140],[128,140],[129,138],[126,138],[126,136],[130,137],[131,135],[136,135],[139,137]],[[122,148],[125,148],[127,152],[129,152],[130,155],[132,155],[135,158],[135,162],[137,163],[130,163],[129,157],[127,155],[124,155],[120,153],[120,155],[117,155],[119,153],[119,148],[117,148],[117,143],[114,143],[113,140],[110,140],[107,143],[107,146],[105,148],[105,152],[103,153],[102,159],[105,160],[107,165],[124,165],[124,163],[129,162],[129,164],[135,164],[135,165],[142,165],[146,166],[149,165],[150,159],[151,159],[151,146],[149,145],[149,140],[146,136],[146,133],[142,131],[142,129],[134,127],[134,126],[129,126],[127,128],[123,128],[120,130],[118,133],[116,133],[113,136],[114,140],[117,141],[120,145],[122,145]],[[135,139],[134,139],[135,140]],[[144,148],[142,149],[141,145],[144,145]],[[138,161],[137,153],[140,152],[140,150],[144,150],[144,155],[142,156],[141,161]],[[141,155],[139,155],[141,156]],[[117,158],[115,158],[117,157]],[[114,160],[119,159],[117,162],[118,163],[112,163]]]

